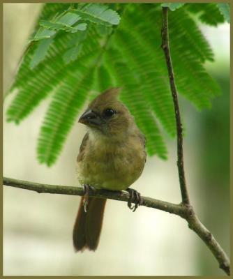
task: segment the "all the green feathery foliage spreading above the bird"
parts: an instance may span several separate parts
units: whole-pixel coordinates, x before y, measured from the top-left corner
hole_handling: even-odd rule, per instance
[[[213,52],[189,13],[213,24],[207,17],[213,8],[216,24],[223,15],[212,3],[172,6],[169,14],[176,86],[198,109],[210,107],[220,89],[203,66]],[[8,121],[20,123],[52,93],[38,139],[40,163],[57,160],[84,103],[111,86],[122,87],[120,98],[146,136],[148,153],[167,158],[160,125],[171,136],[176,126],[160,29],[160,4],[45,4],[7,111]]]

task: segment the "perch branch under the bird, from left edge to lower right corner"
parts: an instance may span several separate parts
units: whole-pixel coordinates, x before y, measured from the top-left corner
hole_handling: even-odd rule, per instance
[[[50,194],[63,194],[63,195],[84,195],[83,188],[72,186],[57,186],[33,183],[29,181],[22,181],[17,179],[10,179],[3,177],[3,185],[11,186],[15,188],[22,188],[27,190],[33,190],[37,193],[50,193]],[[127,192],[110,191],[110,190],[96,190],[92,189],[89,193],[90,197],[100,197],[106,199],[114,199],[122,202],[128,202],[129,195]],[[134,201],[135,202],[135,201]],[[200,223],[195,215],[192,207],[185,204],[172,204],[170,202],[164,202],[158,199],[152,199],[151,197],[142,197],[142,206],[151,207],[153,209],[159,209],[161,211],[173,213],[188,222],[188,227],[193,229],[194,232],[206,243],[213,255],[216,257],[220,264],[220,268],[223,269],[228,275],[230,275],[230,262],[227,255],[220,247],[219,243],[213,237],[213,235]]]

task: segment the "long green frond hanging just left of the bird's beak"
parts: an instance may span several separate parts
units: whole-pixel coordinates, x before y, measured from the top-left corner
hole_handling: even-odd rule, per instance
[[[93,54],[91,55],[93,58]],[[87,56],[80,60],[79,68],[69,64],[66,79],[57,89],[40,128],[37,153],[40,163],[51,166],[59,156],[63,143],[77,119],[93,82],[93,67]]]

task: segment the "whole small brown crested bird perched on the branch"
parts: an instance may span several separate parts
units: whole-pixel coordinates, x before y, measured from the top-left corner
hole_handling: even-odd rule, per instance
[[[127,190],[128,206],[142,203],[140,194],[128,187],[142,174],[146,161],[144,135],[133,116],[117,100],[119,89],[108,89],[95,98],[80,117],[88,127],[77,156],[77,178],[85,195],[73,229],[76,251],[96,250],[103,223],[106,199],[88,197],[89,187],[107,190]],[[131,207],[132,199],[136,200]]]

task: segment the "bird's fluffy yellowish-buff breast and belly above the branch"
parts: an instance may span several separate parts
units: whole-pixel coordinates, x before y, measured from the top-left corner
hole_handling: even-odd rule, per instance
[[[120,144],[89,142],[77,163],[77,177],[82,185],[125,190],[142,174],[144,163],[144,146],[135,139]]]

